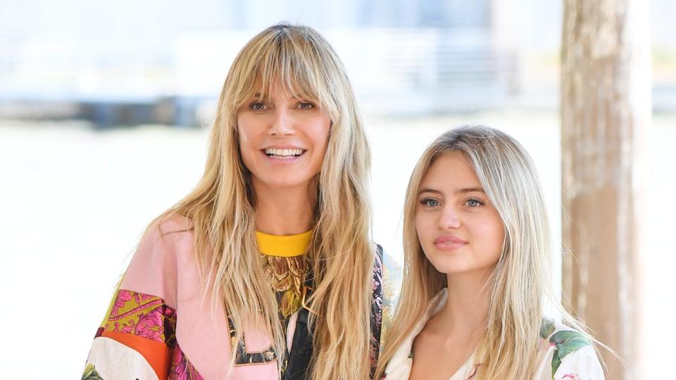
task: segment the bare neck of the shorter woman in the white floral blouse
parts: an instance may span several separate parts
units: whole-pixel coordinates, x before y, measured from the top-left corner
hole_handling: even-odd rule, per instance
[[[448,300],[441,317],[449,331],[481,331],[488,314],[492,272],[493,268],[488,268],[479,272],[446,274]]]

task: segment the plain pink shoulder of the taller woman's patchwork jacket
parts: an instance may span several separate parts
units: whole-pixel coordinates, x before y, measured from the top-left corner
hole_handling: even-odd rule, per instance
[[[134,253],[120,289],[163,298],[176,305],[180,272],[196,267],[192,223],[176,215],[152,224]]]

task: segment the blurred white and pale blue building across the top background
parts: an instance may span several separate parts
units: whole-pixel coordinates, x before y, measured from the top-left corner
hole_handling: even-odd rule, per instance
[[[208,115],[244,42],[280,21],[325,34],[371,112],[558,102],[561,1],[19,1],[0,4],[0,102],[6,105],[133,106],[165,99],[178,111],[160,121],[190,124],[197,110]],[[671,23],[655,25],[668,34]],[[11,108],[3,103],[0,114]],[[100,108],[92,112],[115,118]],[[125,114],[134,113],[144,115]]]

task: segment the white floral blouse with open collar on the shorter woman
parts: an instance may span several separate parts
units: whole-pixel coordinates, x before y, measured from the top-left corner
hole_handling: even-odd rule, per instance
[[[386,380],[407,380],[413,367],[413,341],[423,331],[432,315],[446,305],[446,289],[434,296],[425,315],[411,334],[401,343],[385,367]],[[538,367],[532,380],[603,380],[603,369],[596,352],[587,337],[563,324],[545,319],[540,329],[542,345],[538,351]],[[449,380],[473,379],[480,363],[475,355],[463,364]]]

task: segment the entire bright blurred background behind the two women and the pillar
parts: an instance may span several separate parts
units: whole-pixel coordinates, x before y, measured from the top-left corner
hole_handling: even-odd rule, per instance
[[[373,233],[389,253],[401,258],[415,160],[465,123],[503,129],[530,151],[560,244],[562,6],[0,0],[0,378],[80,376],[146,224],[201,176],[230,63],[280,21],[317,29],[346,65],[373,149]],[[676,341],[665,327],[676,311],[668,239],[676,227],[676,3],[650,6],[642,379],[666,379]]]

